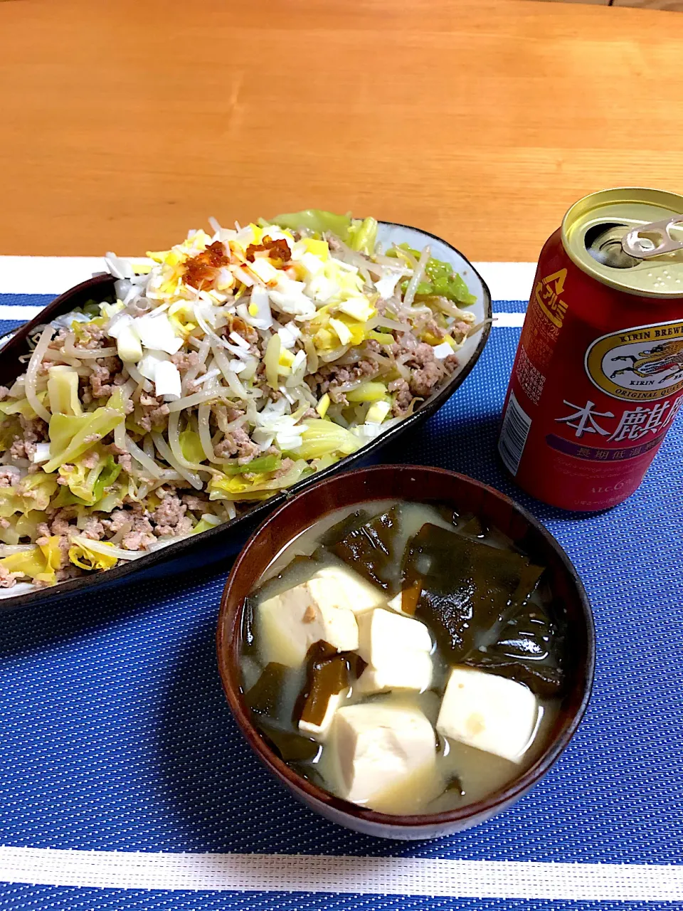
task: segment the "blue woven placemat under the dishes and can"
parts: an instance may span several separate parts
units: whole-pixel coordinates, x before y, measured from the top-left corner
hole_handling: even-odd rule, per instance
[[[0,303],[22,302],[7,297]],[[521,312],[524,304],[494,310]],[[556,535],[585,582],[598,641],[593,700],[566,753],[531,794],[474,830],[413,844],[353,834],[297,804],[242,742],[223,698],[214,630],[227,567],[214,567],[0,616],[0,842],[396,858],[397,875],[412,859],[523,862],[529,870],[544,863],[551,884],[560,869],[551,865],[577,863],[592,875],[590,865],[626,864],[634,877],[641,865],[682,865],[683,419],[627,503],[594,517],[535,503],[494,458],[518,337],[518,329],[494,328],[454,399],[386,457],[453,468],[515,496]],[[34,868],[43,856],[36,854]],[[93,855],[93,864],[99,856],[106,855]],[[72,881],[67,866],[55,882]],[[21,879],[7,869],[5,878]],[[465,885],[460,897],[438,884],[435,897],[355,894],[349,885],[335,896],[317,888],[311,895],[302,880],[296,892],[242,895],[30,885],[26,876],[25,885],[0,884],[0,908],[624,907],[599,888],[586,901],[563,896],[562,885],[514,897],[516,869],[499,897]],[[657,896],[638,896],[629,907],[671,907],[647,901]]]

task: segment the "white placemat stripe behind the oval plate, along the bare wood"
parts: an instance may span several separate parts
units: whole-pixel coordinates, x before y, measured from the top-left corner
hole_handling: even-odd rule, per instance
[[[474,267],[494,301],[529,300],[533,262],[475,262]],[[98,256],[0,256],[0,294],[61,294],[103,271],[105,261]]]

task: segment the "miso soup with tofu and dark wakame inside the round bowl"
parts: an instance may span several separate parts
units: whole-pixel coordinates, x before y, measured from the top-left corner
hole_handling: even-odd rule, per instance
[[[310,599],[311,579],[331,590],[347,575],[358,582],[355,649],[348,616],[329,627],[336,648],[312,641],[321,619],[304,601],[291,614],[303,610],[301,626],[285,625],[292,591]],[[261,735],[313,783],[388,814],[440,813],[499,790],[542,752],[562,696],[562,620],[543,567],[495,528],[443,507],[373,501],[324,517],[273,559],[245,605],[242,691]],[[528,727],[514,760],[505,753],[521,730],[510,730],[517,709],[500,720],[508,699]],[[312,726],[300,729],[302,712]]]

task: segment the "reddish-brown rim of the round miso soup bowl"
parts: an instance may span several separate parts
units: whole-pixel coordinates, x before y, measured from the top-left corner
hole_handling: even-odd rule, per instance
[[[582,722],[584,715],[586,714],[586,709],[591,698],[593,691],[593,681],[595,677],[595,668],[596,668],[596,627],[595,619],[593,617],[593,611],[591,609],[590,600],[588,599],[586,589],[584,584],[581,581],[581,578],[576,571],[576,567],[569,559],[566,554],[565,549],[560,545],[545,526],[533,516],[525,507],[520,506],[515,500],[505,494],[501,493],[499,490],[496,490],[494,487],[484,484],[482,481],[477,481],[473,477],[462,475],[459,472],[450,471],[447,468],[439,468],[435,466],[411,466],[411,465],[392,465],[392,466],[371,466],[367,468],[362,468],[358,472],[354,472],[354,475],[358,474],[373,474],[382,471],[392,471],[392,472],[421,472],[421,473],[435,473],[440,475],[448,475],[456,477],[461,483],[465,485],[476,486],[484,490],[487,494],[493,495],[495,498],[505,501],[508,506],[512,507],[516,513],[521,515],[531,527],[535,529],[538,534],[545,538],[545,542],[550,548],[552,548],[556,556],[560,559],[560,562],[566,569],[567,575],[572,579],[576,590],[578,593],[578,600],[582,609],[582,616],[586,625],[586,670],[583,675],[583,679],[576,681],[576,692],[579,691],[579,687],[582,688],[581,701],[576,706],[576,711],[571,720],[567,723],[564,731],[560,732],[556,738],[550,742],[546,749],[536,758],[535,762],[532,763],[521,775],[513,779],[512,782],[504,785],[498,790],[491,793],[484,800],[477,801],[474,804],[466,804],[464,807],[456,808],[454,810],[445,811],[439,814],[406,814],[406,815],[392,815],[379,813],[376,810],[366,810],[359,806],[358,804],[352,804],[349,801],[343,800],[341,797],[337,797],[334,794],[325,791],[322,788],[319,788],[317,785],[309,782],[307,779],[302,778],[301,775],[296,773],[287,763],[284,763],[272,750],[268,744],[260,736],[259,732],[256,730],[250,719],[249,709],[244,703],[243,696],[240,692],[239,681],[235,681],[235,686],[233,687],[235,693],[235,701],[238,703],[240,709],[240,714],[235,710],[233,705],[233,696],[229,690],[229,686],[226,682],[227,673],[224,673],[223,662],[221,660],[221,650],[223,648],[228,648],[227,645],[224,645],[222,641],[223,636],[223,627],[225,626],[224,616],[227,611],[227,596],[229,591],[229,586],[232,578],[236,578],[240,572],[240,567],[243,562],[249,558],[249,552],[252,544],[260,537],[260,535],[270,526],[271,523],[275,523],[279,520],[280,515],[284,512],[285,509],[291,506],[291,502],[294,500],[294,497],[291,498],[287,503],[283,503],[277,509],[273,510],[270,513],[270,516],[260,524],[260,526],[252,533],[250,539],[240,550],[240,554],[235,559],[235,562],[229,572],[229,577],[226,581],[225,588],[223,589],[223,595],[220,600],[220,609],[219,609],[219,620],[216,633],[216,647],[217,647],[217,657],[219,662],[219,673],[220,679],[223,684],[223,690],[225,691],[226,698],[229,704],[230,711],[232,711],[233,717],[240,728],[240,732],[245,737],[247,742],[250,744],[251,749],[259,755],[259,758],[262,763],[264,763],[269,771],[276,775],[276,777],[284,778],[289,783],[292,791],[303,792],[307,797],[314,800],[317,804],[323,804],[324,806],[331,807],[336,812],[343,814],[345,816],[352,817],[355,820],[362,821],[364,823],[372,824],[373,826],[382,826],[385,828],[394,828],[394,829],[412,829],[419,830],[423,829],[433,829],[434,827],[443,827],[444,830],[447,829],[448,824],[458,824],[464,823],[469,819],[474,817],[479,817],[482,821],[491,815],[497,813],[499,810],[504,809],[506,806],[513,804],[518,798],[523,796],[527,791],[535,786],[545,775],[549,772],[551,767],[559,759],[560,755],[566,750],[569,742],[576,733],[579,724]],[[339,475],[333,476],[326,479],[326,483],[331,481],[339,481],[343,478],[344,475],[350,474],[349,472],[342,472]],[[296,499],[300,499],[304,496],[307,496],[309,491],[302,491]],[[359,501],[361,502],[361,501]],[[363,500],[367,502],[367,500]],[[323,514],[326,515],[326,514]],[[241,626],[241,615],[243,611],[243,604],[239,611],[239,620]],[[228,662],[226,661],[226,664]],[[243,721],[244,720],[244,721]],[[249,728],[252,733],[252,737],[248,737],[244,725]]]

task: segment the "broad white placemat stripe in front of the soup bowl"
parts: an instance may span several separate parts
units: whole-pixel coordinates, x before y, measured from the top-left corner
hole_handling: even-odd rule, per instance
[[[683,901],[683,866],[1,847],[0,880],[119,889]]]

